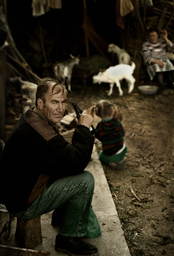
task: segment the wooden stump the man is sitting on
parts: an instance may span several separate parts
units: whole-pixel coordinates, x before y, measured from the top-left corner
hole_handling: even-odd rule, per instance
[[[17,218],[15,237],[22,248],[35,249],[42,242],[41,216],[33,219]]]

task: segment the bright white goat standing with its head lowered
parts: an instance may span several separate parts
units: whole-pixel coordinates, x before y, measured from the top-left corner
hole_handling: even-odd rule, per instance
[[[116,83],[119,90],[119,95],[122,96],[123,92],[121,90],[120,81],[125,79],[126,82],[128,82],[128,93],[131,93],[135,84],[135,78],[132,76],[134,69],[134,62],[131,62],[131,66],[127,64],[118,64],[114,67],[109,67],[104,72],[99,72],[98,75],[94,75],[93,83],[110,83],[110,91],[107,94],[109,96],[113,93],[113,86]]]

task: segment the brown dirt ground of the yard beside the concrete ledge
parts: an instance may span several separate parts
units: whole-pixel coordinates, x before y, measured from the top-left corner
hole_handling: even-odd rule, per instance
[[[123,96],[109,85],[72,85],[71,103],[89,110],[98,100],[108,99],[121,108],[128,152],[126,170],[103,164],[111,194],[132,256],[174,255],[174,90],[155,95],[131,94],[123,85]],[[100,119],[96,119],[94,126]],[[98,151],[101,143],[96,140]],[[130,188],[132,188],[133,193]]]

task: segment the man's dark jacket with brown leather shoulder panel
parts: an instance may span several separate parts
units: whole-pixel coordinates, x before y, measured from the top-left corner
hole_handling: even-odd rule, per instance
[[[0,162],[0,203],[10,212],[26,211],[40,174],[56,180],[83,172],[93,145],[94,136],[87,127],[78,125],[70,144],[56,127],[28,110],[5,143]]]

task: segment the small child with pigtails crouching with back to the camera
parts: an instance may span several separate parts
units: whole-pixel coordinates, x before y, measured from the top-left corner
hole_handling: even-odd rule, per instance
[[[99,160],[115,169],[124,170],[126,165],[120,161],[126,155],[127,146],[124,143],[125,131],[121,124],[123,119],[121,112],[108,100],[98,101],[90,112],[93,117],[96,115],[102,119],[96,127],[95,134],[95,137],[102,142]]]

